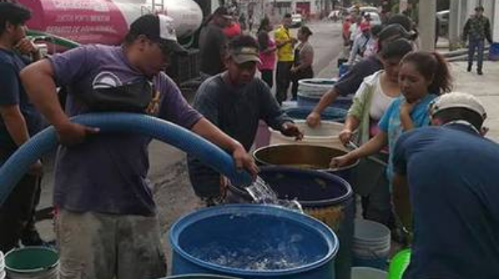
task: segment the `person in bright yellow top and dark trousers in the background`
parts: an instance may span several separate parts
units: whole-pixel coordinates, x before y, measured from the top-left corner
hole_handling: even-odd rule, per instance
[[[277,47],[276,99],[279,105],[288,98],[288,88],[291,81],[291,67],[295,60],[294,47],[297,42],[290,34],[291,15],[283,17],[282,25],[274,32]]]

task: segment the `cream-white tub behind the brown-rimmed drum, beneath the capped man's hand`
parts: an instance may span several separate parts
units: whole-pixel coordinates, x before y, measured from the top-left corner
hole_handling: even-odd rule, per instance
[[[305,120],[295,120],[295,124],[304,133],[303,140],[296,141],[294,137],[286,137],[281,132],[269,128],[270,144],[310,144],[347,151],[338,137],[343,130],[342,123],[321,121],[316,128],[310,128]]]

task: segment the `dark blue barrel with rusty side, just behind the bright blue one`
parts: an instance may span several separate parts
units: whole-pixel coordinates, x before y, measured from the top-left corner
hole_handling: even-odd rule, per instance
[[[259,176],[278,198],[297,198],[304,212],[331,227],[340,240],[335,278],[350,279],[353,235],[353,192],[339,176],[293,167],[261,167]],[[229,185],[229,202],[252,201],[245,191]]]

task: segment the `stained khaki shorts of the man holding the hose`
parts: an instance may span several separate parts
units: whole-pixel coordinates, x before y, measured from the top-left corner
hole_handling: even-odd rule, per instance
[[[55,233],[60,279],[166,276],[157,217],[60,210]]]

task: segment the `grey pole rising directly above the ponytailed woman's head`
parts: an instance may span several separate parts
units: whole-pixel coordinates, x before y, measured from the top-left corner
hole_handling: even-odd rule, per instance
[[[424,2],[424,3],[423,3]],[[437,0],[419,1],[419,35],[421,50],[435,50],[435,24],[437,14]]]

